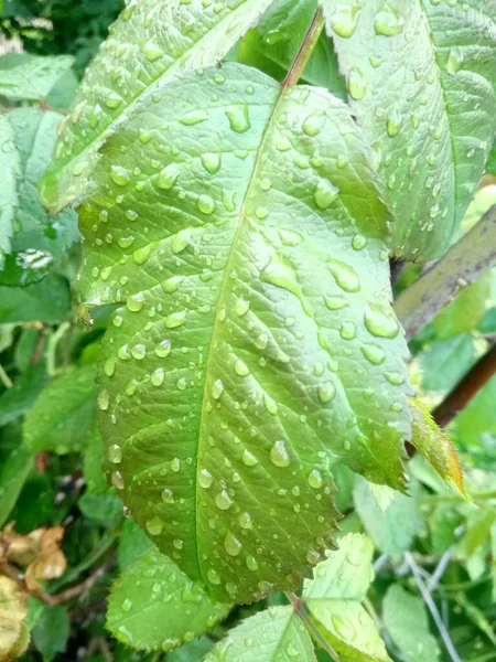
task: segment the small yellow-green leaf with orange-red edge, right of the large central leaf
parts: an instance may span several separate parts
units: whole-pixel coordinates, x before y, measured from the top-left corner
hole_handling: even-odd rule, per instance
[[[411,444],[444,480],[451,480],[465,494],[462,467],[450,438],[419,399],[410,398],[410,408],[413,415]]]

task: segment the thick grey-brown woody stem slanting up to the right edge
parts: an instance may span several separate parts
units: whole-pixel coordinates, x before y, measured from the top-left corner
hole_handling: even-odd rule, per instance
[[[446,303],[496,264],[496,205],[395,301],[410,340]]]

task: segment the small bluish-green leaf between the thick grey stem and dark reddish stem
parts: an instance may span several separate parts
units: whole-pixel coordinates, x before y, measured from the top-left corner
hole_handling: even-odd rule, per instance
[[[450,391],[474,362],[474,341],[470,333],[435,340],[420,354],[422,387]]]

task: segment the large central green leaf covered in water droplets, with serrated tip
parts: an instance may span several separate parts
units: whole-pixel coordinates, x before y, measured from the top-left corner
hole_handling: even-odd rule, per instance
[[[368,159],[342,102],[229,64],[144,103],[80,209],[82,296],[127,301],[101,350],[107,468],[219,598],[310,573],[337,459],[402,485],[407,350]]]

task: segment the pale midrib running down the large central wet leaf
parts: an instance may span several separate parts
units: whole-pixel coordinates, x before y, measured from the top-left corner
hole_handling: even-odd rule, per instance
[[[260,145],[259,148],[257,150],[257,157],[255,160],[255,164],[254,164],[254,170],[251,172],[251,177],[248,181],[248,185],[246,188],[245,191],[245,196],[242,199],[242,204],[241,204],[241,209],[239,210],[239,218],[238,218],[238,225],[236,227],[236,231],[234,233],[233,236],[233,241],[230,244],[230,249],[229,249],[229,255],[227,257],[227,261],[226,261],[226,266],[225,266],[225,270],[224,270],[224,277],[223,277],[223,281],[220,284],[219,287],[219,295],[218,295],[218,299],[217,299],[217,303],[216,303],[216,309],[215,309],[215,317],[214,317],[214,322],[213,322],[213,327],[212,327],[212,337],[211,337],[211,342],[209,342],[209,349],[208,349],[208,356],[206,360],[206,364],[205,364],[205,377],[204,377],[204,385],[203,385],[203,397],[202,397],[202,405],[200,408],[200,420],[198,420],[198,448],[200,448],[200,439],[202,436],[202,425],[203,425],[203,420],[205,417],[205,410],[206,410],[206,403],[207,403],[207,388],[206,385],[209,382],[208,377],[209,377],[209,373],[212,371],[212,355],[213,355],[213,344],[216,338],[216,334],[218,332],[218,328],[220,324],[220,314],[219,314],[219,309],[220,309],[220,302],[223,301],[224,297],[225,297],[225,290],[226,290],[226,286],[228,284],[228,274],[230,271],[230,264],[233,261],[233,258],[235,256],[235,247],[238,241],[238,237],[241,233],[241,229],[244,227],[244,222],[247,218],[246,215],[246,205],[247,205],[247,201],[248,201],[248,195],[251,191],[251,188],[254,185],[254,182],[257,181],[257,177],[258,177],[258,172],[260,170],[261,167],[261,157],[265,152],[265,148],[266,148],[266,143],[269,139],[269,136],[271,134],[271,130],[273,128],[273,122],[274,122],[274,118],[279,111],[280,105],[284,98],[284,93],[287,92],[287,89],[290,89],[288,86],[284,86],[284,84],[280,85],[279,88],[279,95],[276,99],[276,103],[273,104],[272,107],[272,111],[269,116],[268,122],[267,122],[267,127],[263,131],[262,138],[260,140]],[[195,538],[196,538],[196,556],[197,556],[197,564],[198,564],[198,570],[200,573],[203,575],[202,573],[202,564],[201,564],[201,559],[200,559],[200,536],[198,536],[198,517],[197,517],[197,513],[198,513],[198,453],[196,453],[196,480],[195,480],[195,505],[194,505],[194,517],[195,517]]]

